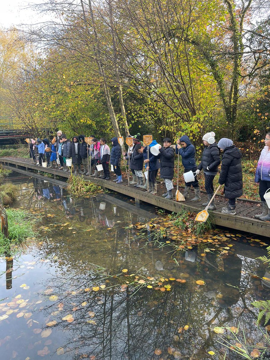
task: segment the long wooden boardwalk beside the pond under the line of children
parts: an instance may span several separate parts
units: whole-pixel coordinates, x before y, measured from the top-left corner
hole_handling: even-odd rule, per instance
[[[42,168],[40,166],[34,165],[30,159],[24,158],[14,158],[14,157],[1,157],[0,162],[3,163],[4,167],[22,172],[26,174],[28,172],[31,176],[33,170],[44,171],[55,176],[62,176],[65,178],[69,177],[69,173],[63,172],[55,168]],[[201,201],[191,202],[189,199],[185,202],[176,202],[174,200],[167,200],[162,198],[160,195],[166,192],[165,184],[161,183],[158,185],[158,195],[147,194],[143,189],[134,188],[134,186],[128,186],[127,180],[124,180],[122,184],[116,184],[112,180],[105,181],[98,178],[93,178],[90,176],[84,176],[84,179],[96,183],[102,188],[107,188],[118,193],[127,195],[131,198],[134,198],[137,203],[140,201],[158,206],[160,208],[178,212],[182,207],[190,209],[194,212],[202,210],[202,203],[207,201],[207,195],[205,192],[201,193]],[[182,189],[183,190],[183,189]],[[174,189],[173,194],[175,195],[176,189]],[[181,189],[180,189],[181,191]],[[183,191],[182,191],[183,192]],[[191,198],[194,194],[191,190]],[[260,212],[260,203],[258,201],[246,200],[246,199],[237,199],[237,214],[236,215],[226,215],[221,213],[222,207],[226,206],[227,201],[223,195],[216,196],[216,206],[217,210],[211,211],[211,221],[219,226],[225,226],[229,229],[247,231],[252,234],[262,235],[265,237],[270,237],[270,222],[261,221],[254,218],[254,215]]]

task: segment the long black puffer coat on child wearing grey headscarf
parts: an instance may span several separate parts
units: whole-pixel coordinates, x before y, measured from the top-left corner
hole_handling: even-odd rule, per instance
[[[225,184],[225,198],[227,199],[243,195],[241,158],[242,154],[235,145],[224,149],[219,184]]]

